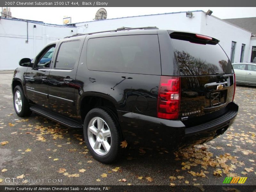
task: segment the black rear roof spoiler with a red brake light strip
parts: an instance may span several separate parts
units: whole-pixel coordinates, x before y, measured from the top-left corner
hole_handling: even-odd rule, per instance
[[[179,39],[179,40],[189,41],[191,43],[197,43],[197,44],[216,45],[220,42],[218,39],[215,39],[209,36],[200,35],[200,34],[195,34],[195,33],[169,31],[169,34],[172,39]]]

